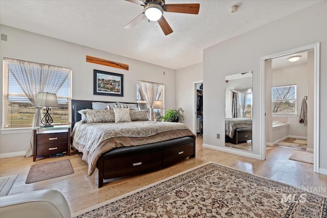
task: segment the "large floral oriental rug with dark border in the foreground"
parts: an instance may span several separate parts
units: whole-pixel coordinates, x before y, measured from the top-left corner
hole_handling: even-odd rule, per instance
[[[75,217],[326,217],[327,200],[209,162]]]

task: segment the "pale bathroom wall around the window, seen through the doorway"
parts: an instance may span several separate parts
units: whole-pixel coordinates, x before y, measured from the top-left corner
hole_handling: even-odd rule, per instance
[[[313,77],[313,75],[311,75]],[[284,67],[272,70],[272,86],[296,85],[297,98],[297,116],[288,116],[289,135],[299,136],[298,138],[307,138],[307,126],[299,123],[299,114],[304,96],[308,95],[308,66],[301,64],[291,67]],[[273,115],[274,117],[278,115]]]

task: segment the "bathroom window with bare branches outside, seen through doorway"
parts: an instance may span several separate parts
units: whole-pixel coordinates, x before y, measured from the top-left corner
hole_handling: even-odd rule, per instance
[[[272,87],[272,113],[296,114],[296,85]]]

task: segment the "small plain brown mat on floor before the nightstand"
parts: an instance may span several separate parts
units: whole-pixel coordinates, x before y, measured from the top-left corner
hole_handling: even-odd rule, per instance
[[[31,166],[26,178],[26,184],[53,179],[73,174],[74,169],[70,160],[59,160]]]

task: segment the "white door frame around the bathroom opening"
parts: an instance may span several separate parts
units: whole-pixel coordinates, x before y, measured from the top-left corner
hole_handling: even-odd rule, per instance
[[[313,106],[313,171],[319,173],[319,144],[320,144],[320,98],[319,98],[319,80],[320,80],[320,42],[298,47],[296,49],[264,56],[261,58],[261,129],[263,130],[260,141],[260,158],[261,160],[266,159],[266,60],[278,58],[298,52],[314,50],[314,106]]]

